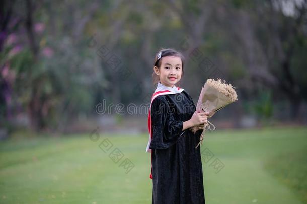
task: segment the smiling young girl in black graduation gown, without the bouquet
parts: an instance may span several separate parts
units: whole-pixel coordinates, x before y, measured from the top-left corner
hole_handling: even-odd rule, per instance
[[[196,113],[191,96],[176,87],[183,75],[184,57],[173,49],[162,49],[155,57],[154,82],[149,114],[152,203],[205,203],[200,147],[195,149],[207,113]]]

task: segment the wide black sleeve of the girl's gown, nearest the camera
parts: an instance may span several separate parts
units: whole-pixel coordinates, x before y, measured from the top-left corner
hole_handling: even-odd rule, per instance
[[[150,149],[167,149],[174,145],[184,131],[183,121],[175,120],[174,112],[164,96],[158,96],[151,103],[152,140]]]

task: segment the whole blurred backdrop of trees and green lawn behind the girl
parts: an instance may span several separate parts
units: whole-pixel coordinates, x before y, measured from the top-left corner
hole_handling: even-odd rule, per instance
[[[201,147],[224,165],[216,173],[203,161],[206,201],[307,203],[306,7],[2,1],[0,202],[150,203],[151,74],[157,51],[171,47],[186,57],[176,86],[194,103],[208,78],[238,93]]]

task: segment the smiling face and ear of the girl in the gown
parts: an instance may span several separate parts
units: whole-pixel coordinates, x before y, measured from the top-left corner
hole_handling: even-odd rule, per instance
[[[173,87],[181,79],[181,58],[177,56],[162,57],[160,69],[155,66],[154,71],[159,75],[161,84]]]

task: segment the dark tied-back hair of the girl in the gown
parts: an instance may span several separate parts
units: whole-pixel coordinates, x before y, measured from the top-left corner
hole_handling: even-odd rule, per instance
[[[161,57],[160,59],[158,59],[158,54],[161,52]],[[160,49],[156,56],[155,56],[155,65],[154,66],[157,66],[159,69],[160,69],[160,66],[161,66],[161,61],[162,61],[162,57],[166,57],[166,56],[177,56],[177,57],[180,57],[181,59],[181,63],[182,63],[182,75],[183,75],[183,64],[184,64],[184,61],[185,61],[185,58],[184,56],[176,51],[175,49],[172,49],[172,48],[168,48],[168,49]],[[156,75],[156,73],[152,73],[152,81],[154,81],[154,84],[157,84],[160,80],[160,77],[158,75]]]

